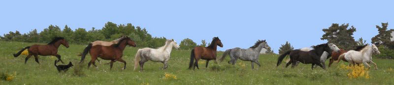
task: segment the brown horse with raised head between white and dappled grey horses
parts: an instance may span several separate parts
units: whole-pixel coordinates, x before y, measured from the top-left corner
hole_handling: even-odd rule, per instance
[[[193,69],[198,68],[198,61],[200,59],[206,60],[206,64],[205,67],[208,67],[208,63],[210,60],[214,60],[214,62],[216,64],[218,64],[216,62],[216,48],[217,46],[223,47],[223,43],[220,41],[220,39],[218,37],[214,37],[212,39],[212,42],[209,46],[207,47],[195,47],[192,50],[192,53],[190,55],[190,64],[189,64],[189,69],[192,68]],[[195,64],[193,65],[193,60],[196,60]]]

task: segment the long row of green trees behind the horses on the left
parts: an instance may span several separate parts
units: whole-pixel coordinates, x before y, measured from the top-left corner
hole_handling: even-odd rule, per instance
[[[39,33],[36,29],[24,34],[15,31],[4,34],[0,38],[2,41],[48,43],[54,37],[64,37],[68,43],[87,44],[93,41],[112,41],[122,35],[131,37],[133,41],[138,43],[137,46],[140,47],[160,47],[164,45],[166,40],[164,37],[152,37],[145,28],[134,26],[131,23],[118,25],[113,22],[105,23],[101,29],[94,27],[90,30],[77,28],[75,31],[67,25],[64,28],[57,25],[49,25],[48,28],[44,28]]]

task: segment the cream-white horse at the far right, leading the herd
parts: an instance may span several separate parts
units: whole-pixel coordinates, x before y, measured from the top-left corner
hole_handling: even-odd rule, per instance
[[[345,57],[345,59],[353,65],[363,63],[364,65],[367,65],[368,68],[370,68],[371,66],[368,63],[375,64],[375,69],[377,70],[378,66],[376,63],[372,62],[372,54],[380,54],[380,51],[375,44],[365,46],[361,49],[361,51],[350,50],[340,55],[338,60],[335,62],[338,63],[343,57]]]

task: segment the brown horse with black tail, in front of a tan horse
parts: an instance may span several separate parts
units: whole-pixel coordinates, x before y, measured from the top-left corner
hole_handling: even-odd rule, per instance
[[[88,54],[88,52],[89,52],[89,54],[91,56],[91,60],[88,64],[88,68],[90,67],[91,64],[93,64],[93,65],[95,65],[95,67],[97,67],[97,65],[95,64],[95,61],[96,61],[97,57],[99,57],[103,60],[111,60],[109,69],[112,69],[112,65],[116,61],[124,63],[125,66],[123,69],[126,69],[126,61],[124,61],[122,59],[122,56],[123,56],[123,50],[126,48],[127,45],[131,45],[133,47],[136,46],[134,41],[132,41],[129,37],[126,37],[126,38],[120,40],[119,43],[112,44],[111,46],[102,46],[102,45],[92,46],[92,43],[90,43],[84,49],[80,63],[83,62],[86,54]]]

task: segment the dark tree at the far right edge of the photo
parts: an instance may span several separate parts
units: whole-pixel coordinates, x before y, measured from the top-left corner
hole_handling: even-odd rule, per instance
[[[378,29],[379,34],[371,39],[372,40],[371,43],[379,43],[379,44],[383,44],[385,46],[390,45],[390,43],[392,42],[391,38],[393,38],[391,33],[394,31],[394,29],[387,30],[388,25],[389,25],[389,22],[382,23],[382,27],[380,27],[379,25],[376,25],[376,28]]]

